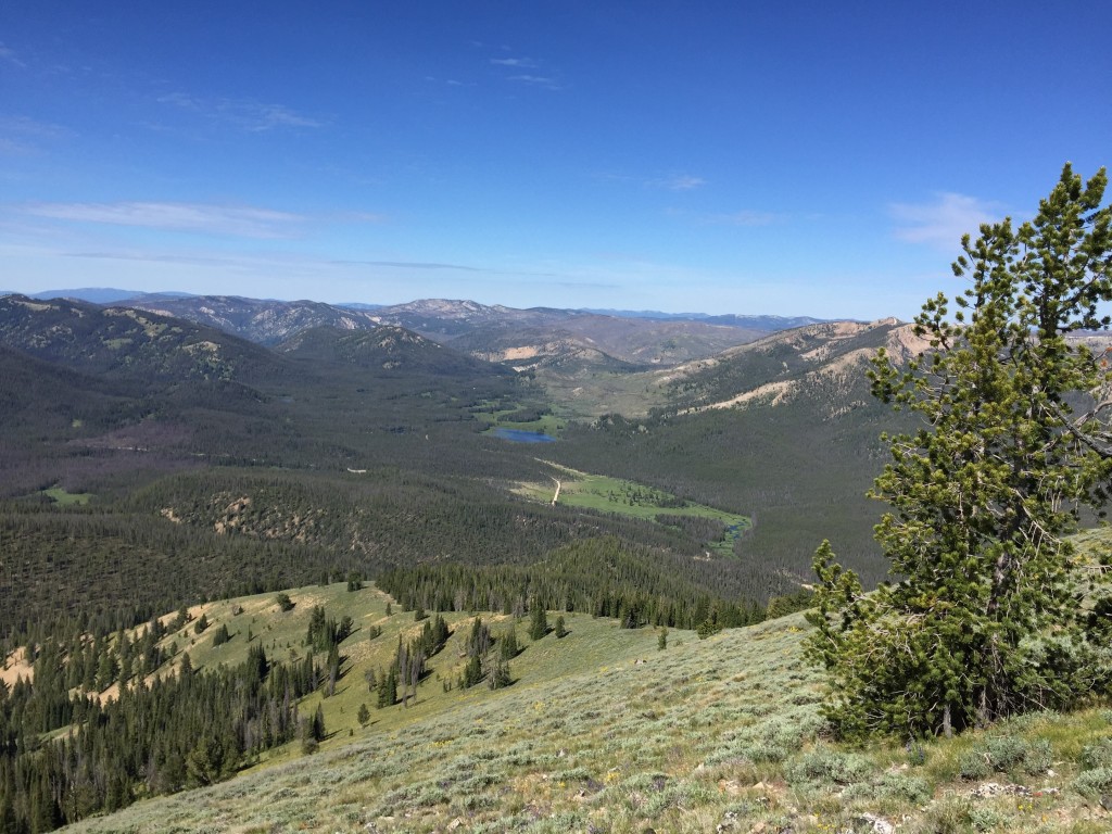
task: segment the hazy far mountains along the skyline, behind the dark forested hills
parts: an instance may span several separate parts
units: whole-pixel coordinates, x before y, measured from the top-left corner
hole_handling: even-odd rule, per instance
[[[533,307],[517,309],[466,299],[429,298],[399,305],[329,305],[312,300],[281,301],[240,296],[142,294],[116,288],[52,290],[50,298],[87,299],[181,318],[216,328],[265,347],[289,344],[299,334],[320,328],[356,334],[378,327],[403,328],[431,342],[450,346],[484,363],[522,374],[539,375],[545,387],[575,389],[598,374],[626,376],[648,368],[672,368],[708,359],[791,328],[820,324],[807,316],[742,316],[666,314]],[[405,339],[401,340],[404,344]],[[332,345],[325,351],[351,350]],[[365,354],[371,342],[360,342]],[[324,349],[318,340],[317,349]],[[435,366],[428,348],[406,350],[406,359],[383,357],[386,365]],[[365,355],[361,360],[367,360]]]

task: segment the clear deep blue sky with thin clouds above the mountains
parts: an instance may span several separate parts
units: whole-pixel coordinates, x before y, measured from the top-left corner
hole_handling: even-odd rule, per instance
[[[0,289],[910,318],[1112,161],[1105,2],[8,0]]]

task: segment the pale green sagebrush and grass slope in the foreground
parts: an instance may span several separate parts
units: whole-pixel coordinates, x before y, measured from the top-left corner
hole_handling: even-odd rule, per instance
[[[460,668],[469,623],[453,615],[455,634],[433,659],[417,704],[371,709],[361,728],[356,711],[370,701],[363,669],[386,663],[398,633],[417,627],[413,615],[387,618],[387,599],[373,588],[290,596],[298,605],[288,614],[277,613],[272,596],[239,600],[236,616],[229,602],[206,606],[214,626],[241,634],[216,649],[205,636],[190,653],[195,663],[232,662],[248,625],[275,652],[300,652],[315,603],[360,627],[383,625],[378,639],[359,631],[345,644],[354,668],[337,694],[302,706],[325,705],[331,737],[320,752],[302,756],[290,745],[230,782],[141,802],[75,831],[744,832],[763,823],[764,831],[835,832],[867,830],[865,813],[903,820],[907,832],[1095,834],[1110,823],[1098,801],[1103,788],[1092,785],[1112,780],[1112,711],[1035,716],[922,752],[840,748],[820,737],[822,681],[802,659],[798,615],[707,641],[674,631],[663,652],[654,632],[582,614],[565,615],[562,641],[549,634],[529,645],[519,624],[526,648],[512,663],[513,686],[445,693],[437,677]],[[495,634],[512,622],[495,619]],[[182,645],[189,635],[168,641]],[[1009,773],[963,781],[962,768],[1001,738],[1032,749],[1045,739],[1052,772],[1027,773],[1040,768],[1021,761]],[[1081,772],[1083,749],[1101,739],[1105,771],[1091,754]],[[986,781],[1022,784],[1032,795],[972,796]]]

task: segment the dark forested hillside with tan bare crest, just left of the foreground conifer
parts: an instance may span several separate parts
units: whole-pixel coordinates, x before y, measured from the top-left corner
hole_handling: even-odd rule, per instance
[[[577,425],[563,459],[744,508],[753,527],[736,550],[746,564],[802,582],[828,538],[878,582],[880,507],[865,493],[885,460],[881,434],[904,424],[872,398],[865,371],[877,347],[913,341],[894,320],[813,325],[659,371],[667,406]]]

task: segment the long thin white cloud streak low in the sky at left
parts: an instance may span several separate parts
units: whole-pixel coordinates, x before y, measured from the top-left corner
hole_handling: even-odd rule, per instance
[[[36,217],[247,238],[295,237],[307,218],[286,211],[191,202],[36,202]]]

